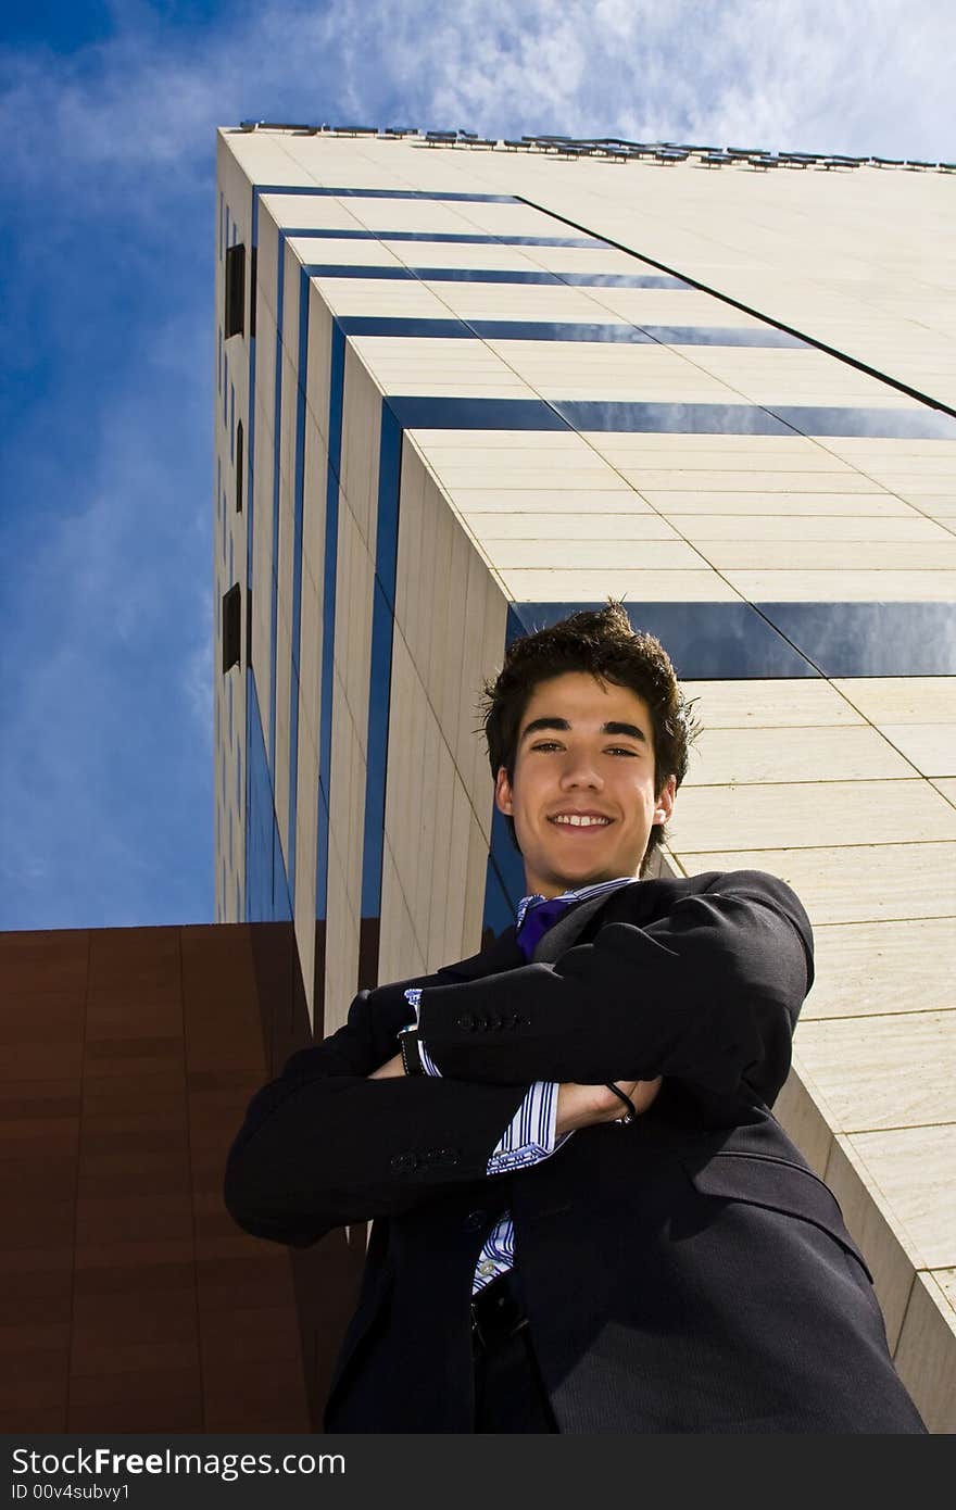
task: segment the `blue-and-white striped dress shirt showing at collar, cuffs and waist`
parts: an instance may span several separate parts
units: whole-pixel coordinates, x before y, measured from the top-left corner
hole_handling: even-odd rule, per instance
[[[580,891],[565,891],[560,897],[523,897],[518,903],[518,912],[515,917],[518,948],[521,948],[524,957],[530,960],[538,939],[542,938],[551,923],[556,923],[560,912],[571,906],[572,901],[583,901],[586,897],[597,897],[604,891],[616,891],[618,886],[627,886],[633,880],[633,876],[619,876],[616,880],[601,880],[597,886],[581,886]],[[535,912],[545,901],[548,903],[548,914],[553,915],[547,917],[544,929],[535,927],[535,921],[544,921],[541,918],[535,920]],[[557,908],[557,903],[562,903],[562,906]],[[421,988],[411,986],[405,992],[405,998],[415,1009],[417,1018]],[[430,1059],[427,1048],[421,1040],[418,1040],[418,1054],[426,1075],[441,1075],[441,1071]],[[572,1132],[562,1132],[562,1136],[556,1139],[556,1120],[557,1084],[548,1080],[536,1080],[533,1086],[529,1086],[524,1101],[504,1128],[497,1148],[488,1160],[486,1173],[506,1175],[512,1169],[526,1169],[529,1164],[539,1164],[544,1158],[550,1158],[550,1155],[554,1154],[562,1143],[566,1143],[569,1137],[574,1137]],[[476,1296],[479,1290],[483,1290],[485,1285],[489,1285],[492,1279],[497,1279],[498,1274],[504,1274],[509,1268],[513,1268],[513,1265],[515,1226],[510,1219],[510,1211],[506,1211],[497,1226],[488,1234],[485,1246],[479,1253],[471,1284],[471,1294]]]

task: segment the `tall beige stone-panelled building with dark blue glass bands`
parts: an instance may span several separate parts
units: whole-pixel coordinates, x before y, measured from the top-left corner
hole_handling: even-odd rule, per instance
[[[705,725],[663,864],[806,904],[779,1116],[956,1428],[951,168],[248,122],[217,216],[216,921],[295,936],[282,1042],[510,921],[482,680],[625,598]]]

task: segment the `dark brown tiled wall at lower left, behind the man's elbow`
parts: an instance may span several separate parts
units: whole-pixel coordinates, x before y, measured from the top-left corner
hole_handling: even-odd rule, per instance
[[[242,1232],[222,1172],[310,1042],[282,924],[0,935],[0,1431],[317,1430],[364,1229]]]

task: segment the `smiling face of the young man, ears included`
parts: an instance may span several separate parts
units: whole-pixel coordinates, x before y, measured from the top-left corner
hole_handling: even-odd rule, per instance
[[[518,728],[513,781],[504,766],[495,803],[515,823],[529,892],[637,876],[677,782],[654,793],[654,726],[630,687],[566,672],[535,687]]]

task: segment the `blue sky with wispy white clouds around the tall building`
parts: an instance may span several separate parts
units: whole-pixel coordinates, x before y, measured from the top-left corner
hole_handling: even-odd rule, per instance
[[[950,0],[6,0],[0,927],[202,923],[214,127],[956,159]]]

